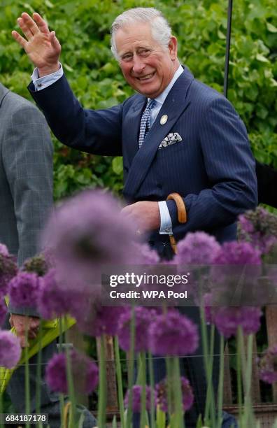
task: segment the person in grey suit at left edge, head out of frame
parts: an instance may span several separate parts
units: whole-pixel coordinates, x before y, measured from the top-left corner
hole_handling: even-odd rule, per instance
[[[0,242],[20,266],[38,252],[38,234],[52,207],[52,141],[41,112],[31,102],[0,83]],[[37,334],[36,308],[9,306],[10,325],[15,327],[22,348]],[[10,328],[6,322],[6,328]],[[56,351],[56,343],[43,349],[43,363]],[[43,365],[44,366],[44,365]],[[31,411],[35,411],[36,357],[30,359]],[[24,367],[8,383],[15,410],[24,413]],[[41,406],[59,418],[59,399],[41,383]],[[57,406],[57,409],[56,409]],[[56,415],[57,414],[57,415]],[[58,427],[59,425],[57,425]]]

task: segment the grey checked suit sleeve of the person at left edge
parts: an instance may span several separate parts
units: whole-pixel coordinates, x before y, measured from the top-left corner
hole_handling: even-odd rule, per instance
[[[38,238],[52,207],[52,141],[35,106],[19,106],[6,127],[3,167],[13,197],[19,240],[18,264],[38,251]],[[10,312],[37,315],[35,308]]]

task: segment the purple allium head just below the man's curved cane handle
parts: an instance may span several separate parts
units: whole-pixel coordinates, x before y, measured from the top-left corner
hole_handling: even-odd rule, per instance
[[[211,264],[220,244],[213,236],[205,232],[189,233],[177,245],[178,254],[174,257],[176,264]]]

